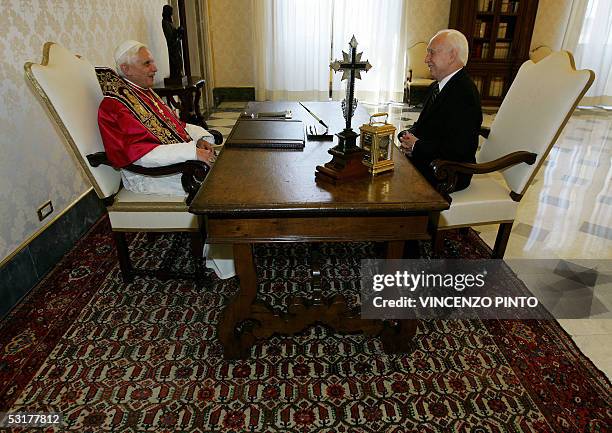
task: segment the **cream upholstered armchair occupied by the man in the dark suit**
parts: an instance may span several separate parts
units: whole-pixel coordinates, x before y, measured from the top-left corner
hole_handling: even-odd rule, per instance
[[[451,200],[440,213],[438,230],[500,224],[493,248],[503,258],[519,201],[546,160],[595,74],[577,71],[569,52],[553,52],[538,63],[525,62],[510,86],[477,163],[435,160],[440,191]],[[503,183],[486,173],[499,172]],[[454,191],[456,174],[472,173],[470,186]],[[441,236],[435,236],[439,248]]]

